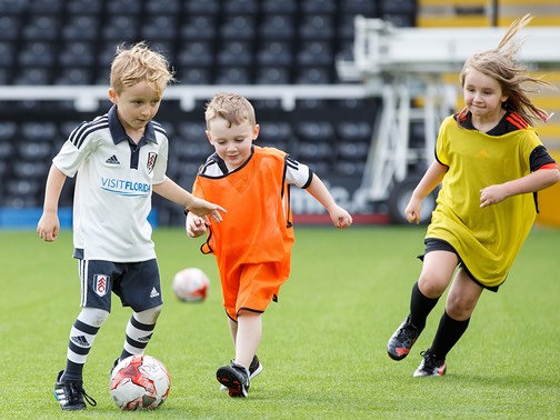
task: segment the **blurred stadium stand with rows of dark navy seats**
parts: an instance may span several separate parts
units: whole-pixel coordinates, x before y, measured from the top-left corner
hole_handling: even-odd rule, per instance
[[[336,62],[351,59],[353,21],[361,14],[397,27],[492,23],[484,0],[0,0],[0,90],[6,86],[97,86],[106,89],[117,44],[147,40],[170,59],[183,87],[341,83]],[[498,23],[520,13],[522,2],[500,0]],[[560,24],[557,0],[534,0],[542,24]],[[521,8],[521,9],[520,9]],[[537,12],[538,12],[537,10]],[[560,82],[560,81],[556,81]],[[359,81],[357,81],[359,84]],[[208,98],[209,99],[209,98]],[[560,108],[557,97],[543,101]],[[360,184],[379,98],[278,97],[252,100],[262,126],[260,143],[309,161],[327,182],[351,194]],[[203,107],[186,110],[164,100],[158,121],[171,137],[169,174],[190,189],[210,149]],[[90,103],[89,103],[90,104]],[[42,203],[50,159],[80,121],[106,112],[67,99],[0,102],[0,208]],[[560,111],[560,110],[559,110]],[[557,129],[546,136],[560,138]],[[412,133],[422,132],[412,128]],[[547,138],[548,138],[547,137]],[[559,146],[560,149],[560,146]],[[72,182],[61,207],[72,201]],[[156,199],[160,223],[182,222],[181,209]],[[377,209],[376,209],[377,211]],[[383,209],[380,209],[383,211]]]

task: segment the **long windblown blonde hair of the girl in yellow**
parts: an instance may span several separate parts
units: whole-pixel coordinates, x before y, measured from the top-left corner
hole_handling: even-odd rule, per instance
[[[474,69],[496,79],[502,89],[502,94],[508,97],[503,108],[508,111],[519,113],[527,122],[534,124],[538,121],[547,122],[551,117],[540,108],[537,108],[528,93],[536,93],[538,89],[528,89],[523,83],[536,83],[552,87],[549,82],[527,74],[527,67],[516,62],[513,56],[520,49],[520,42],[514,42],[512,38],[529,23],[533,17],[528,13],[517,19],[508,28],[508,32],[502,38],[498,48],[478,52],[467,59],[460,73],[461,87],[464,87],[464,78],[469,69]],[[467,108],[459,112],[459,117],[467,114]],[[460,118],[458,118],[458,121]]]

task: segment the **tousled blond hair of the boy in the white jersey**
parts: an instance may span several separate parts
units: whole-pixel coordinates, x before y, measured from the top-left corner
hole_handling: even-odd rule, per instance
[[[144,41],[130,48],[119,44],[111,63],[111,88],[121,93],[124,88],[143,80],[161,96],[168,83],[173,81],[173,70],[167,58],[150,50]]]

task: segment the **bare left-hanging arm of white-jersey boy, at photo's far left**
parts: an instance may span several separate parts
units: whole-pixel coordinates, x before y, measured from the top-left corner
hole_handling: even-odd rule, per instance
[[[58,203],[62,187],[64,187],[67,176],[62,173],[54,164],[49,170],[47,186],[44,189],[44,203],[41,219],[37,223],[37,233],[47,241],[57,240],[60,231],[60,221],[58,218]]]

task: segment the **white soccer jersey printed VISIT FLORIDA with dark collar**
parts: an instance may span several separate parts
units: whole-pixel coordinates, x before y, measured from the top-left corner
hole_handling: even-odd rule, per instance
[[[104,116],[77,127],[54,166],[74,177],[74,257],[138,262],[156,258],[148,214],[152,184],[166,180],[168,138],[151,121],[137,144],[113,106]]]

